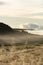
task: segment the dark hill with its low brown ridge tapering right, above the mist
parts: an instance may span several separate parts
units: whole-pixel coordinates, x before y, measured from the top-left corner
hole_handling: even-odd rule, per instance
[[[16,29],[16,28],[13,29],[9,25],[0,22],[0,34],[8,34],[8,33],[27,34],[28,32],[24,31],[24,29]]]

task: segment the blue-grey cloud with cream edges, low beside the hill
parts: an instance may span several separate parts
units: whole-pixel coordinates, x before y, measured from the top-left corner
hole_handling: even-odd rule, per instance
[[[43,30],[43,26],[40,26],[37,23],[30,23],[30,24],[20,25],[19,28],[34,29],[34,30]]]

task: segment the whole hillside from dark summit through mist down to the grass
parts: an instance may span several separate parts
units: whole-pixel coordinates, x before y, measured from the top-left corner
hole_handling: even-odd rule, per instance
[[[0,35],[0,45],[14,45],[16,43],[43,43],[43,36],[28,33],[25,29],[13,29],[4,23],[0,23],[0,34],[3,34],[2,36]]]

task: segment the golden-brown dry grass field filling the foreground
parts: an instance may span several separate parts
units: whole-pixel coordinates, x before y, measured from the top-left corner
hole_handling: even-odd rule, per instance
[[[43,45],[1,46],[0,65],[43,65]]]

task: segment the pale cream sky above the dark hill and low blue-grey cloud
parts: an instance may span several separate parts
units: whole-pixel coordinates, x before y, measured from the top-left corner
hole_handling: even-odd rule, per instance
[[[11,27],[25,23],[43,26],[43,0],[0,0],[0,22]]]

